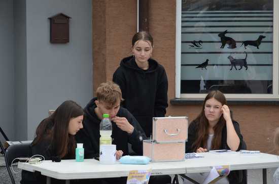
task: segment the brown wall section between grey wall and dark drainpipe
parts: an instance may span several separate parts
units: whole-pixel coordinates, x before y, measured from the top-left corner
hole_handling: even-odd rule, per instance
[[[93,91],[112,80],[120,60],[131,54],[136,32],[136,1],[92,0]]]

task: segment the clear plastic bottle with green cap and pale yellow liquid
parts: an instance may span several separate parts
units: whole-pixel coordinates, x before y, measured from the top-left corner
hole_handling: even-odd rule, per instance
[[[112,122],[109,114],[103,114],[100,123],[100,145],[112,144]]]

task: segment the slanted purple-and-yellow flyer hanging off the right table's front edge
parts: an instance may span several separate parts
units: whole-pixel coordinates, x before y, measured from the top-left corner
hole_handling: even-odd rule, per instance
[[[220,166],[214,166],[210,173],[207,175],[207,177],[204,179],[202,184],[213,184],[217,182],[218,180],[222,179],[223,177],[226,177],[230,173],[230,166],[229,165],[220,165]]]

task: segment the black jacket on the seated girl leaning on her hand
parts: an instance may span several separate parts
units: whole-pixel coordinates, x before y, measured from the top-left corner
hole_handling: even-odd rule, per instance
[[[232,124],[234,126],[234,129],[239,137],[240,143],[238,146],[238,149],[236,151],[239,151],[241,149],[246,149],[246,144],[243,141],[243,136],[240,133],[240,128],[239,124],[236,121],[232,121]],[[192,121],[188,127],[188,142],[186,142],[185,146],[185,152],[186,153],[192,153],[196,152],[196,150],[192,149],[192,145],[194,141],[196,140],[198,133],[198,122],[197,121]],[[230,150],[229,146],[227,145],[227,127],[226,125],[224,126],[222,130],[222,140],[221,140],[221,147],[219,148],[220,150]],[[228,179],[230,184],[238,184],[238,183],[245,183],[245,175],[243,171],[231,171],[230,174],[228,175]]]

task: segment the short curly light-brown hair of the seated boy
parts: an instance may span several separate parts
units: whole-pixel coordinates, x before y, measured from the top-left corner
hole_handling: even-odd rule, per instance
[[[97,100],[108,103],[111,106],[118,101],[123,101],[119,85],[112,81],[102,82],[96,90]]]

